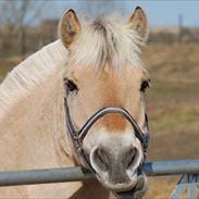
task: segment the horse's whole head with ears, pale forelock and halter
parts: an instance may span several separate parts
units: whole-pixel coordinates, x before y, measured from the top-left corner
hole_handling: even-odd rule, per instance
[[[80,23],[69,10],[59,34],[69,50],[65,116],[76,162],[117,198],[142,197],[150,85],[139,59],[148,34],[145,12],[137,8],[127,21],[99,16]]]

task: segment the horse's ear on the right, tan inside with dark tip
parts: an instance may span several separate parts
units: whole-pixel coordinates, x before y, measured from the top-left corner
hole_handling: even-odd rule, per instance
[[[144,10],[137,7],[129,18],[130,27],[135,29],[145,41],[148,36],[148,22]]]

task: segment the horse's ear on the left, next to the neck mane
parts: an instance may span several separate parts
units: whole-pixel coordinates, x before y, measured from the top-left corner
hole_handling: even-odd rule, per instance
[[[59,24],[59,36],[66,48],[74,41],[80,32],[80,23],[75,11],[70,9],[64,13]]]

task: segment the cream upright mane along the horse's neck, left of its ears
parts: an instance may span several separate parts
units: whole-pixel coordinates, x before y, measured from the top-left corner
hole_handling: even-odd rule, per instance
[[[58,40],[18,64],[0,85],[0,116],[55,70],[62,71],[66,60],[67,50]]]

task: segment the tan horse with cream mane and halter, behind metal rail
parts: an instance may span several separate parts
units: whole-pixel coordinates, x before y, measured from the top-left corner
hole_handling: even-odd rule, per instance
[[[0,85],[0,170],[82,165],[97,181],[1,187],[0,198],[142,198],[150,86],[139,58],[144,10],[86,22],[69,10],[58,29],[58,40]]]

